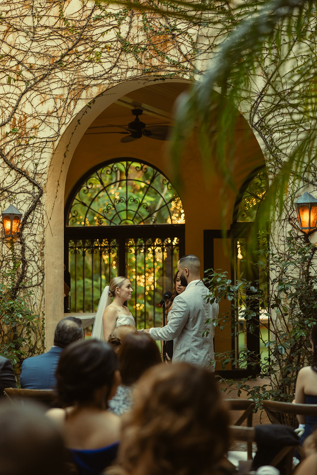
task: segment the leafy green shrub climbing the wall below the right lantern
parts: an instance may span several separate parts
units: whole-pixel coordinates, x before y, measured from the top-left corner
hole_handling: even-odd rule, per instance
[[[263,341],[268,348],[268,356],[260,362],[258,354],[248,349],[242,352],[228,351],[216,354],[222,368],[226,364],[238,365],[246,360],[251,367],[260,365],[259,378],[269,377],[270,384],[259,384],[251,387],[248,379],[238,383],[238,395],[246,390],[250,398],[257,401],[257,407],[263,399],[292,401],[298,371],[310,364],[310,330],[317,323],[317,273],[314,268],[316,247],[307,239],[294,237],[291,233],[287,238],[284,250],[272,251],[262,246],[256,252],[254,270],[258,276],[265,272],[269,285],[263,285],[259,277],[250,281],[243,276],[236,282],[228,279],[225,272],[210,271],[205,284],[210,288],[210,303],[219,302],[222,298],[231,301],[231,309],[221,314],[218,320],[209,321],[223,329],[231,325],[231,336],[237,337],[239,321],[237,316],[245,319],[244,332],[257,335],[259,332],[259,316],[267,317],[269,340]],[[263,259],[263,256],[266,258]],[[268,273],[269,266],[269,273]],[[232,316],[234,315],[234,316]],[[233,380],[225,380],[231,391]],[[296,420],[285,419],[290,424]]]

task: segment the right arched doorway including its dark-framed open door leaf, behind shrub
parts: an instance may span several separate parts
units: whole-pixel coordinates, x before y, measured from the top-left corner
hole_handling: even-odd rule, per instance
[[[250,228],[255,220],[260,202],[265,198],[269,188],[269,180],[266,167],[263,164],[252,171],[245,180],[238,193],[233,210],[233,217],[230,229],[226,230],[225,246],[231,248],[231,253],[225,257],[223,254],[224,238],[222,229],[204,230],[204,268],[226,271],[232,282],[236,282],[243,276],[250,281],[254,287],[261,285],[263,290],[268,285],[268,274],[266,270],[259,272],[254,261],[245,259],[248,247],[248,237]],[[267,236],[263,236],[267,239]],[[259,242],[260,244],[260,242]],[[222,255],[221,255],[222,252]],[[221,256],[219,258],[219,256]],[[250,256],[250,254],[248,255]],[[256,254],[254,254],[254,258]],[[259,260],[264,260],[265,256],[258,256]],[[240,308],[245,302],[240,303]],[[231,306],[230,301],[220,302],[220,315],[231,314],[231,324],[226,321],[219,331],[215,332],[215,353],[228,352],[236,363],[227,363],[226,368],[217,363],[216,372],[224,378],[240,379],[244,377],[254,377],[259,374],[260,353],[261,359],[267,357],[265,342],[269,339],[269,322],[265,317],[265,309],[260,309],[259,305],[254,308],[254,318],[252,322],[246,323],[240,317],[240,310],[232,311],[232,308],[239,307],[238,303]],[[252,324],[252,332],[248,331],[248,324]],[[246,353],[250,360],[246,359]]]

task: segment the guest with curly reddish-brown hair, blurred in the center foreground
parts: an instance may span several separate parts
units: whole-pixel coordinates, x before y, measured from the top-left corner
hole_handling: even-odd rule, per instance
[[[186,362],[157,365],[135,386],[111,474],[220,475],[229,415],[212,373]]]

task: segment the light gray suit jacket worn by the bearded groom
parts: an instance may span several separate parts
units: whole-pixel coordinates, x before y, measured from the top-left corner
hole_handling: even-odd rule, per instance
[[[174,298],[167,325],[151,328],[150,335],[154,340],[174,340],[173,362],[188,361],[214,371],[210,365],[214,360],[214,326],[206,324],[206,320],[216,318],[219,305],[208,304],[205,295],[210,295],[210,291],[201,280],[188,284],[186,290]],[[207,328],[210,333],[203,337],[202,332]]]

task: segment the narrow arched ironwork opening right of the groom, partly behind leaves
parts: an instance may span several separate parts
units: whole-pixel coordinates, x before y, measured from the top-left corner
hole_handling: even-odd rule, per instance
[[[259,287],[263,290],[265,295],[268,295],[268,272],[269,269],[264,266],[267,261],[267,256],[256,253],[252,257],[252,262],[246,258],[248,256],[248,233],[250,226],[255,221],[259,205],[263,199],[267,190],[269,189],[269,179],[266,167],[262,167],[254,170],[240,189],[240,193],[237,198],[233,225],[233,256],[234,256],[234,280],[240,280],[241,277],[249,280],[254,287]],[[258,247],[263,247],[268,241],[267,231],[262,232],[258,236]],[[250,254],[249,254],[250,255]],[[263,266],[256,266],[254,264],[257,261],[263,262]],[[267,316],[267,308],[259,308],[257,305],[254,308],[255,317],[252,322],[246,322],[244,318],[240,316],[243,307],[246,306],[246,301],[242,299],[241,302],[237,302],[238,311],[234,315],[236,320],[236,329],[234,336],[234,349],[236,370],[245,370],[248,373],[256,374],[259,369],[252,367],[248,363],[247,355],[254,355],[254,360],[258,359],[260,367],[261,363],[268,358],[268,348],[265,343],[269,341],[269,318]],[[248,326],[252,325],[253,329],[250,332]]]

